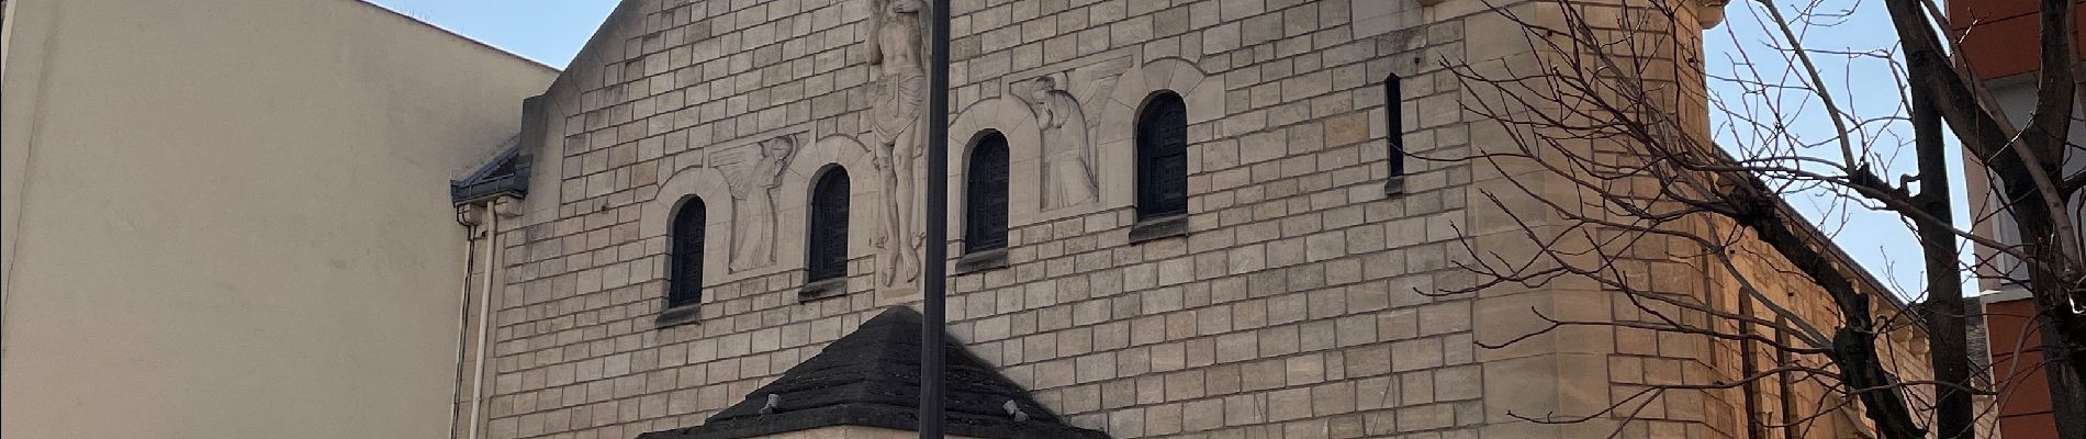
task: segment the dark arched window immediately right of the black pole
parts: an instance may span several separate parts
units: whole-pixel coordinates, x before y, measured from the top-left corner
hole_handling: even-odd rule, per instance
[[[1008,248],[1008,137],[987,133],[964,171],[964,252]]]

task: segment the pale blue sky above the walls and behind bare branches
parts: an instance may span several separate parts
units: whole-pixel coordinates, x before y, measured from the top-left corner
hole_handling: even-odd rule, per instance
[[[572,56],[586,44],[586,37],[595,33],[595,27],[615,8],[615,0],[371,0],[380,6],[405,12],[409,17],[434,23],[438,27],[463,33],[467,37],[486,42],[494,48],[503,48],[526,58],[563,69]],[[1850,0],[1825,0],[1825,10],[1836,4],[1857,4]],[[1771,44],[1767,40],[1767,27],[1761,27],[1756,15],[1756,2],[1733,2],[1727,6],[1727,23],[1711,29],[1704,35],[1704,60],[1706,69],[1713,73],[1733,69],[1740,52],[1752,54],[1750,60],[1767,71],[1781,69],[1773,56]],[[1892,31],[1888,17],[1882,15],[1879,4],[1863,4],[1861,10],[1846,19],[1836,19],[1821,27],[1800,29],[1802,40],[1811,48],[1819,50],[1877,50],[1892,48]],[[1842,102],[1857,108],[1861,114],[1888,114],[1896,110],[1898,85],[1892,81],[1865,81],[1871,77],[1894,77],[1888,64],[1877,60],[1861,58],[1817,58],[1827,71],[1827,83],[1846,96]],[[1713,87],[1719,87],[1713,83]],[[1729,92],[1729,89],[1725,89]],[[1800,96],[1792,96],[1800,98]],[[1811,110],[1815,112],[1815,110]],[[1792,129],[1806,135],[1806,139],[1817,141],[1832,133],[1829,125],[1819,117],[1794,114],[1790,117]],[[1888,133],[1902,131],[1902,127],[1882,129],[1884,137]],[[1727,135],[1719,135],[1719,144],[1733,144]],[[1890,148],[1890,146],[1886,146]],[[1836,150],[1806,150],[1804,154],[1836,154]],[[1902,156],[1879,158],[1886,166],[1884,177],[1894,179],[1900,173],[1911,173],[1913,162],[1909,152]],[[1957,171],[1961,173],[1961,171]],[[1961,185],[1961,175],[1955,183]],[[1957,198],[1961,200],[1961,196]],[[1896,283],[1902,295],[1913,295],[1917,300],[1923,270],[1919,266],[1919,248],[1913,243],[1913,235],[1894,214],[1867,212],[1861,208],[1848,208],[1823,193],[1798,193],[1790,198],[1798,210],[1813,218],[1823,218],[1821,229],[1834,233],[1840,246],[1859,258],[1871,273],[1882,277],[1886,283]],[[1957,218],[1965,218],[1961,202],[1957,208]]]

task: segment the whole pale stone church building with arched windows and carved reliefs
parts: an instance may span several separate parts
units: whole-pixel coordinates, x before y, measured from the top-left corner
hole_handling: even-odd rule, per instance
[[[1471,291],[1473,260],[1535,252],[1544,198],[1500,193],[1544,181],[1471,160],[1514,131],[1450,67],[1539,69],[1519,23],[1556,2],[955,0],[947,175],[922,160],[926,8],[624,0],[451,187],[492,246],[457,437],[914,437],[920,350],[947,352],[947,431],[995,439],[1756,437],[1809,395],[1713,389],[1771,362],[1740,341],[1550,331],[1644,318],[1600,285]],[[1706,129],[1721,0],[1569,8],[1656,19]],[[949,260],[922,258],[928,179]],[[924,264],[949,266],[949,345],[918,345]],[[1704,264],[1644,262],[1736,310]],[[1809,437],[1857,412],[1806,412]]]

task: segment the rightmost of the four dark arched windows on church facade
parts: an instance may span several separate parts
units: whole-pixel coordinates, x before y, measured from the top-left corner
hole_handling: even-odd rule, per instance
[[[1137,218],[1187,212],[1187,104],[1151,96],[1137,117]]]

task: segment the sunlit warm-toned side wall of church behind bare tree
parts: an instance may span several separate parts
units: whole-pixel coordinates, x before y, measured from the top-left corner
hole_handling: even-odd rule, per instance
[[[1685,277],[1688,285],[1706,283],[1700,293],[1690,293],[1700,304],[1711,304],[1717,310],[1738,312],[1738,300],[1744,295],[1742,283],[1750,285],[1767,295],[1771,302],[1754,302],[1750,316],[1763,322],[1786,322],[1786,327],[1800,329],[1800,325],[1811,325],[1832,337],[1844,318],[1840,318],[1840,308],[1834,304],[1832,295],[1817,287],[1809,277],[1800,275],[1788,258],[1781,258],[1767,243],[1758,241],[1752,231],[1733,229],[1729,221],[1696,223],[1698,231],[1725,231],[1733,233],[1733,250],[1748,258],[1736,258],[1733,270],[1719,268],[1679,268],[1692,273],[1671,273],[1673,277]],[[1673,250],[1685,252],[1692,246],[1669,243]],[[1890,291],[1869,291],[1871,318],[1886,329],[1879,333],[1877,356],[1886,370],[1896,375],[1898,381],[1927,381],[1932,379],[1932,368],[1927,368],[1927,335],[1911,327],[1911,318],[1898,300],[1888,295]],[[1786,318],[1765,304],[1773,304],[1790,310],[1798,318]],[[1654,306],[1650,310],[1673,316],[1675,308]],[[1619,320],[1650,322],[1656,320],[1650,310],[1617,310]],[[1688,318],[1706,320],[1694,312],[1677,312]],[[1800,325],[1788,325],[1800,320]],[[1700,322],[1708,327],[1708,322]],[[1746,333],[1748,329],[1738,327],[1738,322],[1721,320],[1715,327],[1723,333]],[[1750,329],[1767,339],[1781,339],[1790,345],[1804,345],[1796,341],[1798,335],[1777,335],[1773,329],[1754,327]],[[1713,341],[1700,335],[1675,335],[1675,333],[1654,333],[1644,329],[1617,329],[1617,356],[1610,358],[1610,377],[1617,395],[1640,393],[1646,385],[1660,383],[1685,383],[1700,379],[1717,379],[1723,383],[1738,383],[1746,368],[1742,360],[1742,343],[1736,341]],[[1825,356],[1806,354],[1781,354],[1767,345],[1754,345],[1754,364],[1750,370],[1771,370],[1777,366],[1811,366],[1821,370],[1836,370],[1836,366]],[[1784,393],[1788,385],[1788,395]],[[1625,393],[1627,391],[1627,393]],[[1663,399],[1646,397],[1646,412],[1665,412],[1667,418],[1692,418],[1706,424],[1717,424],[1721,429],[1736,429],[1744,433],[1742,399],[1746,389],[1723,389],[1723,391],[1702,391],[1702,393],[1667,393]],[[1827,391],[1819,381],[1806,375],[1773,375],[1756,383],[1758,391],[1758,416],[1763,422],[1784,424],[1784,420],[1811,420],[1804,422],[1800,435],[1794,437],[1875,437],[1873,422],[1859,410],[1861,402],[1850,402],[1844,391]],[[1796,404],[1784,410],[1781,399],[1794,397]],[[1930,402],[1934,391],[1930,387],[1909,387],[1907,397],[1915,402]],[[1704,399],[1708,410],[1704,412],[1679,412],[1675,404],[1694,404],[1694,399]],[[1631,404],[1635,408],[1638,404]],[[1723,408],[1723,410],[1715,410]],[[1769,429],[1769,437],[1786,437],[1781,429]],[[1658,437],[1654,433],[1654,437]]]

